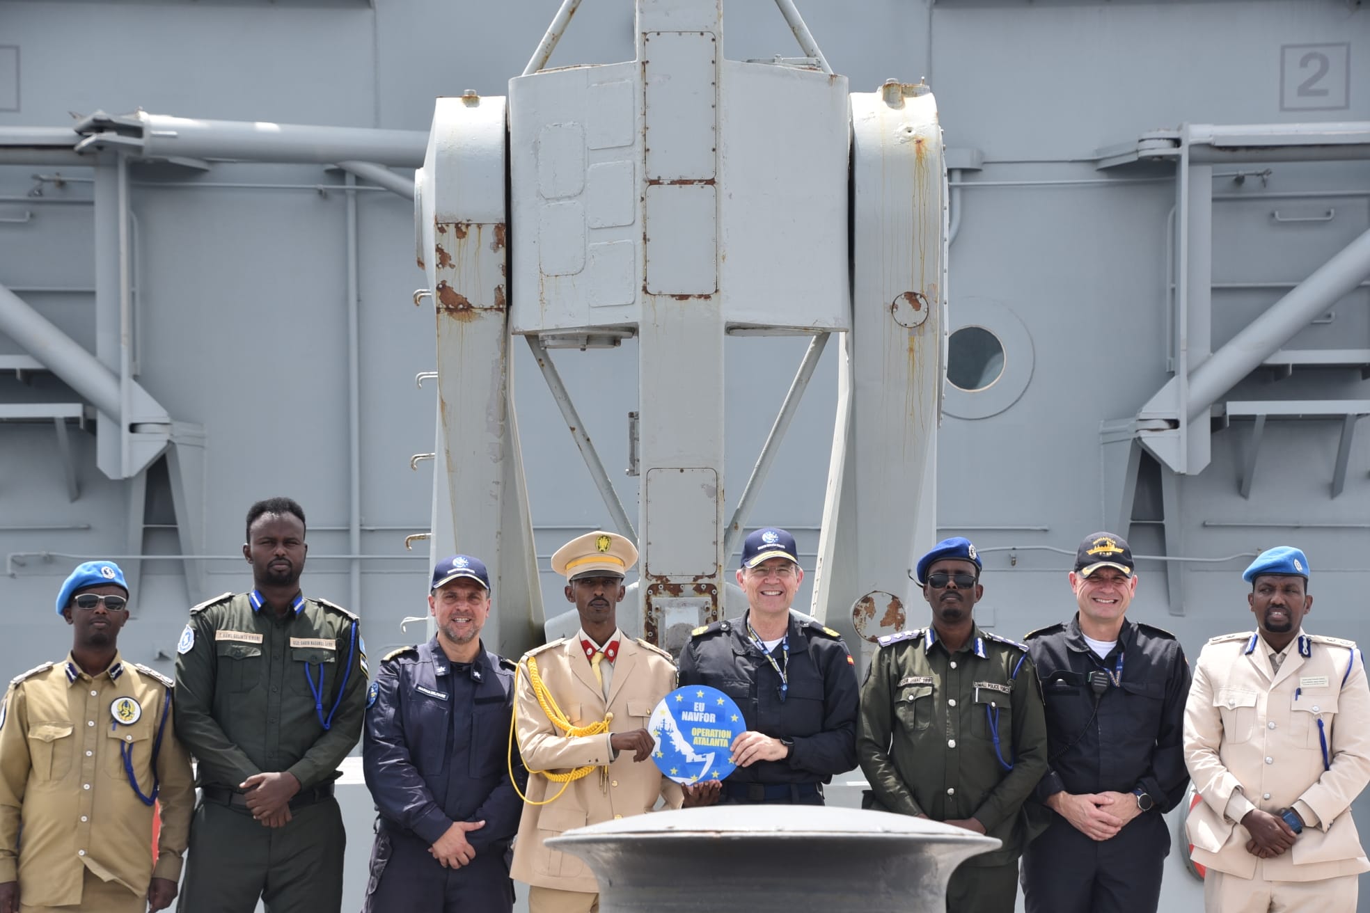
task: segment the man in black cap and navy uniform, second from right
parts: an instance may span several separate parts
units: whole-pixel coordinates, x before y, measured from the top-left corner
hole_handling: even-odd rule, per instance
[[[1189,664],[1173,634],[1126,617],[1136,571],[1121,535],[1086,535],[1070,572],[1075,616],[1026,636],[1051,758],[1029,806],[1045,831],[1023,851],[1028,913],[1145,913],[1160,903],[1170,853],[1162,816],[1189,786]]]

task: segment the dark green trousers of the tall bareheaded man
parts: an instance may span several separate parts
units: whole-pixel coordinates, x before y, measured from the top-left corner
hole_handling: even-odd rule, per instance
[[[337,799],[290,809],[281,828],[244,806],[206,802],[190,820],[190,847],[177,913],[340,913],[347,834]]]

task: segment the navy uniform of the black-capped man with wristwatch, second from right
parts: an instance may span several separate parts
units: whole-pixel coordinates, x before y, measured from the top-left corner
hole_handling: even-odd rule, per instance
[[[1048,771],[1037,799],[1064,790],[1132,793],[1155,801],[1108,840],[1093,840],[1045,806],[1047,830],[1023,853],[1028,913],[1140,913],[1155,910],[1170,853],[1162,817],[1185,795],[1185,698],[1189,664],[1169,631],[1125,620],[1103,660],[1089,649],[1080,619],[1028,635],[1047,705]],[[1089,675],[1117,675],[1096,698]]]

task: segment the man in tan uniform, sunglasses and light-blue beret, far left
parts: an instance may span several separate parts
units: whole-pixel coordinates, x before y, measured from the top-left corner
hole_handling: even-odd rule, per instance
[[[0,913],[164,909],[195,805],[171,679],[119,656],[129,586],[114,561],[77,565],[56,608],[71,653],[15,678],[0,706]]]

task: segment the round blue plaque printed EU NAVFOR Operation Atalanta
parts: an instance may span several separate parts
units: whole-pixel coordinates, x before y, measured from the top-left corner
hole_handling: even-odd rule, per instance
[[[747,730],[733,698],[718,689],[675,689],[656,705],[647,723],[656,746],[652,761],[677,783],[722,780],[733,768],[733,739]]]

